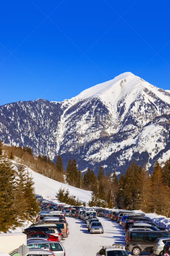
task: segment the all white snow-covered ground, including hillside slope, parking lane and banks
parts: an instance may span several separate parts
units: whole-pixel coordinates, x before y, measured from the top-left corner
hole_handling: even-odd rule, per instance
[[[13,161],[13,163],[17,165],[15,161]],[[17,167],[15,166],[15,168]],[[30,168],[28,168],[28,170],[34,181],[35,193],[42,195],[43,198],[51,202],[60,203],[57,201],[55,195],[61,186],[62,188],[68,188],[70,195],[73,194],[77,196],[79,200],[85,202],[86,204],[88,204],[89,200],[91,199],[90,191],[74,188],[61,182],[51,180],[39,173],[32,171]],[[136,212],[141,211],[138,210]],[[155,213],[147,213],[145,215],[149,217],[152,222],[157,223],[159,226],[170,228],[170,218],[166,218],[165,216],[160,216]],[[100,246],[108,246],[112,245],[113,243],[120,243],[124,245],[125,236],[123,228],[112,220],[103,217],[99,217],[99,219],[102,222],[104,233],[89,234],[84,221],[67,217],[70,235],[61,241],[65,248],[66,255],[74,256],[78,254],[82,256],[93,256],[96,255],[96,252],[101,249]],[[9,232],[22,232],[24,228],[29,227],[31,224],[32,222],[29,221],[29,223],[27,223],[27,221],[25,221],[24,227],[18,227],[15,230],[9,230]],[[7,255],[0,253],[0,256]]]

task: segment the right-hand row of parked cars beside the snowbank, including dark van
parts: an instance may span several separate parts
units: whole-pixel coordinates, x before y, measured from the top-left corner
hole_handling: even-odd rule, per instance
[[[125,250],[133,255],[151,252],[155,255],[170,253],[170,232],[150,222],[144,213],[128,210],[101,210],[103,217],[119,223],[125,233]]]

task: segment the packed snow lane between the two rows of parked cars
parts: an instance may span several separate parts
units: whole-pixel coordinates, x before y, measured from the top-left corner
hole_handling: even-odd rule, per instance
[[[103,245],[125,244],[124,229],[115,221],[98,217],[104,233],[90,234],[83,220],[67,217],[69,236],[62,240],[66,256],[96,256]]]

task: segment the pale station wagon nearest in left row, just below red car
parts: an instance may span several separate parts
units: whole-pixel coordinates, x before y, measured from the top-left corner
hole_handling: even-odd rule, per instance
[[[65,250],[60,242],[50,242],[50,241],[29,241],[27,242],[28,248],[34,249],[46,249],[54,253],[55,256],[65,256]]]

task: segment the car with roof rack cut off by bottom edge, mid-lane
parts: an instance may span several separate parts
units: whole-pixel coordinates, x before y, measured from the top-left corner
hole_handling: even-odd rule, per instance
[[[128,256],[127,252],[123,249],[122,244],[113,244],[112,246],[102,246],[96,256]]]

